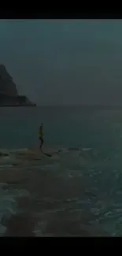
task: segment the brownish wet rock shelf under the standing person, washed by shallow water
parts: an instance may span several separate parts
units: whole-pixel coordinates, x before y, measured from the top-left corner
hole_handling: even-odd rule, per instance
[[[80,206],[79,198],[87,202],[87,184],[79,170],[67,168],[72,152],[66,153],[67,158],[61,149],[45,147],[43,152],[52,157],[38,149],[25,149],[10,150],[7,161],[1,158],[6,169],[0,168],[0,183],[6,184],[8,191],[18,191],[14,196],[16,212],[1,219],[5,236],[108,236],[95,223],[91,209],[83,212]],[[74,152],[77,165],[79,154],[77,149]]]

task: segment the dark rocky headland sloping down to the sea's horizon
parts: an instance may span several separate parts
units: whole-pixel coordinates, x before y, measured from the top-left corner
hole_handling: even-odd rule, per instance
[[[0,106],[35,106],[26,96],[18,95],[5,65],[0,65]]]

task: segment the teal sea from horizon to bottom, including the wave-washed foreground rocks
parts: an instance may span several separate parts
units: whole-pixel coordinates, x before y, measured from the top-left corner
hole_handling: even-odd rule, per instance
[[[19,150],[38,149],[42,122],[52,157],[19,162]],[[0,108],[0,152],[9,152],[0,158],[0,236],[24,196],[34,236],[122,236],[122,109]],[[28,171],[28,182],[3,182],[13,169]]]

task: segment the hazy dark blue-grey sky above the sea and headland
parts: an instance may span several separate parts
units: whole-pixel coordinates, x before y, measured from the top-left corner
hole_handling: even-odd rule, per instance
[[[0,61],[43,104],[122,104],[121,20],[1,20]]]

